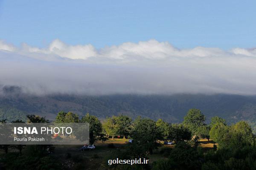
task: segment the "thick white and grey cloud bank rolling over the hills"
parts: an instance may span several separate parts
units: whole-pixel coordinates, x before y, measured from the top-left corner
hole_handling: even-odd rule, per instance
[[[149,40],[96,49],[0,41],[0,86],[30,94],[256,94],[256,49],[178,49]]]

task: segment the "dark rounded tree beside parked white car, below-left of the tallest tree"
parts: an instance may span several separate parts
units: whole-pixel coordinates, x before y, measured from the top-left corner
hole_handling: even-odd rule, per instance
[[[172,124],[169,128],[168,138],[171,141],[189,141],[192,137],[191,131],[182,124]]]

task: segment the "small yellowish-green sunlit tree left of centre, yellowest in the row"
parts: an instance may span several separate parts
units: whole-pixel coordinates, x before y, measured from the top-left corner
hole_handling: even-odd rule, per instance
[[[112,116],[107,118],[103,123],[103,128],[105,129],[106,133],[109,136],[112,136],[112,139],[114,139],[114,136],[117,135],[119,130],[119,125],[117,124],[117,122],[118,122],[117,116]]]

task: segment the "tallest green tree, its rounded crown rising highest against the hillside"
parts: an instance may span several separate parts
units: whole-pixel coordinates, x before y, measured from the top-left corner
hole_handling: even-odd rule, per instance
[[[191,130],[193,134],[196,133],[199,126],[205,125],[205,116],[199,109],[189,109],[187,115],[184,117],[183,124]]]

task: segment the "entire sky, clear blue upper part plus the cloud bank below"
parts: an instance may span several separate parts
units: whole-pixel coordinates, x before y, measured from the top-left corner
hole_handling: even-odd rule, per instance
[[[255,1],[0,0],[0,96],[256,95]]]

